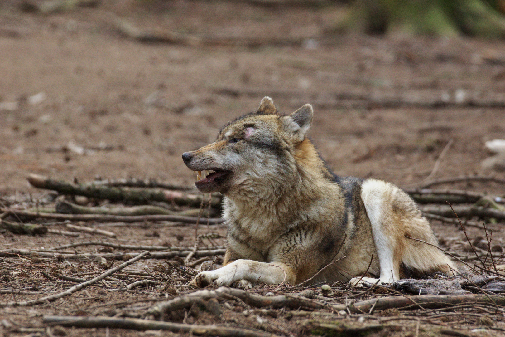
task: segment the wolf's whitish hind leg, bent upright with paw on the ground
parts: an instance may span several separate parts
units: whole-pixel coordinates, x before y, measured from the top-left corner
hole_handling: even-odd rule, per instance
[[[374,237],[377,257],[379,259],[380,277],[355,277],[350,280],[352,285],[358,282],[391,283],[400,278],[399,268],[401,254],[397,238],[398,228],[393,228],[398,224],[390,223],[391,216],[388,214],[391,209],[390,198],[393,192],[392,185],[380,180],[367,180],[362,185],[361,197],[367,211],[370,224],[372,226],[372,235]]]

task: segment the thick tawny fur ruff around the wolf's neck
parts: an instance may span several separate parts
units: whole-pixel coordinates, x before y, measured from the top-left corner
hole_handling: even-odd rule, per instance
[[[338,185],[321,183],[327,181],[329,172],[308,138],[294,147],[293,153],[286,154],[282,167],[267,166],[269,174],[255,179],[249,176],[225,193],[229,201],[224,216],[229,216],[228,220],[247,218],[295,225],[305,209],[335,192],[330,189],[339,189]]]

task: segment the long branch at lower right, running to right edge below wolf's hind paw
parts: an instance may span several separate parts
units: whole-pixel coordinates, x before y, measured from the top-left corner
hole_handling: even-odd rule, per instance
[[[489,296],[489,297],[488,297]],[[418,295],[418,296],[389,296],[378,299],[357,302],[354,304],[335,304],[334,310],[349,309],[352,313],[369,312],[372,306],[374,310],[386,310],[390,308],[414,310],[414,309],[438,309],[461,304],[484,303],[494,305],[505,305],[505,297],[493,295]]]

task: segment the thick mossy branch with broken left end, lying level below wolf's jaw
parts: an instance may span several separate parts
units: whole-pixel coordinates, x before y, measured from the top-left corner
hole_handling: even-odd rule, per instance
[[[37,188],[52,189],[65,195],[77,195],[87,198],[108,199],[112,202],[130,201],[133,203],[151,203],[161,201],[174,203],[178,206],[198,207],[203,195],[191,195],[181,191],[172,191],[156,188],[121,188],[93,184],[73,184],[66,181],[56,181],[37,174],[30,174],[28,182]],[[211,206],[221,207],[221,198],[212,197]]]

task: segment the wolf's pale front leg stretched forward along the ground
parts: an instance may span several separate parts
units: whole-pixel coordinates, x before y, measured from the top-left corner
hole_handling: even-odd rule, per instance
[[[242,279],[249,281],[252,285],[259,281],[267,284],[277,284],[283,280],[285,283],[293,284],[296,281],[296,276],[292,268],[283,263],[235,260],[222,268],[199,273],[189,284],[198,287],[211,283],[230,285]]]

